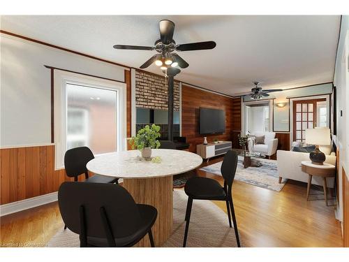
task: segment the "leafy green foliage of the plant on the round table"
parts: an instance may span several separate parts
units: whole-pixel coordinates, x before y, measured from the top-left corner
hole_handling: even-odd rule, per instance
[[[144,129],[140,129],[137,135],[133,136],[129,141],[132,149],[134,150],[137,148],[142,151],[145,147],[154,149],[160,147],[160,142],[156,140],[156,138],[161,136],[158,131],[160,131],[160,126],[156,126],[155,124],[152,124],[151,126],[147,125]]]

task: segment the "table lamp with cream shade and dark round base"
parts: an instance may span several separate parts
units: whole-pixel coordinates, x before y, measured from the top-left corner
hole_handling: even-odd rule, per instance
[[[331,145],[329,129],[306,129],[306,143],[315,145],[315,150],[309,154],[311,163],[322,165],[326,157],[325,154],[319,150],[319,145]]]

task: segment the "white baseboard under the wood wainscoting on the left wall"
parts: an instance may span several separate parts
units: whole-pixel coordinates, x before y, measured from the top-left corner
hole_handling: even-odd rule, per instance
[[[12,214],[15,212],[20,212],[22,210],[27,210],[29,208],[35,208],[39,205],[45,205],[57,200],[57,192],[52,192],[43,196],[35,196],[34,198],[28,198],[22,201],[0,205],[0,217],[5,216],[6,214]]]

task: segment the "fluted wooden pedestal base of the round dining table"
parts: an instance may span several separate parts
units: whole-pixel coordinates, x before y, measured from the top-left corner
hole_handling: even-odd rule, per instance
[[[135,203],[152,205],[158,217],[151,228],[156,247],[161,247],[170,238],[173,224],[172,176],[146,179],[124,179],[124,187],[135,199]],[[150,247],[146,235],[135,247]]]

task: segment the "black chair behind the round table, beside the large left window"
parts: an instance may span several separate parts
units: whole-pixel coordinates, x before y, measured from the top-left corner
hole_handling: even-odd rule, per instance
[[[84,182],[117,183],[117,177],[107,177],[105,175],[94,175],[89,177],[86,164],[92,159],[94,159],[94,153],[91,152],[89,147],[75,147],[68,150],[64,155],[66,175],[68,175],[68,177],[74,177],[75,181],[77,181],[79,175],[84,174]]]

